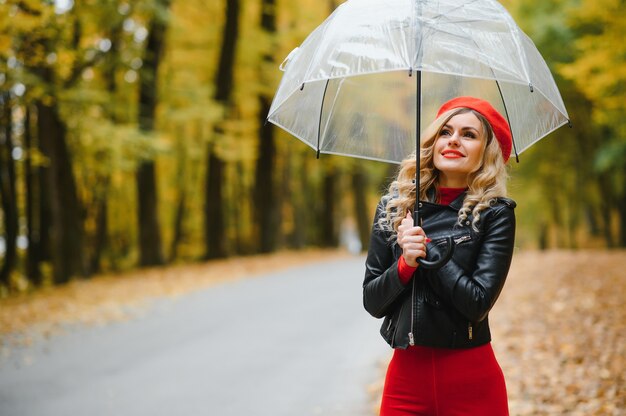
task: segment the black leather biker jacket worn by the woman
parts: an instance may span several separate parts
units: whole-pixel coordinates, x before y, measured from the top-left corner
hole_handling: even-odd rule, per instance
[[[377,222],[378,204],[367,254],[363,304],[376,318],[385,318],[380,333],[393,348],[426,345],[470,348],[491,340],[488,314],[506,280],[515,240],[515,202],[499,198],[481,212],[479,232],[471,220],[459,225],[465,193],[449,206],[423,202],[422,226],[432,239],[427,259],[440,256],[443,238],[452,235],[456,249],[439,270],[418,267],[406,286],[398,277],[402,249],[390,242]]]

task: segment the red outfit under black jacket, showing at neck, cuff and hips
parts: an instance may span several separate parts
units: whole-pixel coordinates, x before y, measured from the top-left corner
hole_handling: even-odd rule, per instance
[[[441,188],[449,204],[465,189]],[[400,278],[414,268],[401,258]],[[508,416],[506,385],[491,344],[468,349],[395,349],[387,369],[380,416]]]

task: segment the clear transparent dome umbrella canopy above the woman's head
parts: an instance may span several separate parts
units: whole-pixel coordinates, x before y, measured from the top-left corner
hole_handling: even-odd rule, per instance
[[[506,115],[516,154],[569,121],[545,61],[495,0],[349,0],[281,69],[268,121],[318,154],[398,163],[456,96]]]

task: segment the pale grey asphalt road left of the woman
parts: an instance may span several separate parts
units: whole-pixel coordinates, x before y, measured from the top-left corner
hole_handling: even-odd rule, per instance
[[[369,416],[390,350],[361,301],[364,258],[155,301],[0,359],[0,415]]]

